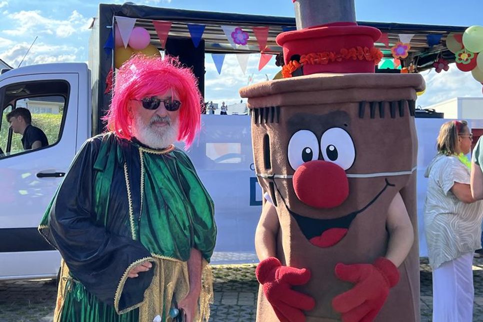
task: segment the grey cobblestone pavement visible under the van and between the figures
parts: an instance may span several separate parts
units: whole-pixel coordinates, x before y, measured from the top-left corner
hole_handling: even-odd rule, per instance
[[[210,321],[254,321],[258,284],[254,264],[214,265],[214,303]],[[421,259],[421,322],[431,321],[431,272]],[[473,261],[473,321],[483,322],[483,258]],[[0,281],[0,321],[51,321],[54,280]]]

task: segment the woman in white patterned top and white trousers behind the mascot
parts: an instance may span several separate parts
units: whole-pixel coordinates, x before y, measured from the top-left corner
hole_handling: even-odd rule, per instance
[[[437,154],[424,174],[424,232],[432,268],[433,315],[436,322],[472,320],[475,249],[481,248],[483,201],[471,195],[472,134],[466,121],[448,121],[437,137]]]

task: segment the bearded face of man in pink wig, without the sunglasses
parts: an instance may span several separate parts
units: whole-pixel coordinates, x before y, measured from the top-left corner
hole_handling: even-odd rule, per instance
[[[150,147],[164,148],[174,143],[177,138],[179,108],[182,106],[174,111],[166,109],[165,101],[178,99],[171,91],[152,97],[153,100],[161,99],[155,109],[143,107],[142,101],[130,100],[133,116],[132,133],[139,141]]]

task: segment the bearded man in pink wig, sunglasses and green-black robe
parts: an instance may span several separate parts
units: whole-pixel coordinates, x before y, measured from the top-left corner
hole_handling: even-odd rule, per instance
[[[77,153],[40,223],[62,255],[55,321],[209,317],[213,202],[186,154],[201,97],[174,58],[131,57],[116,74],[108,131]]]

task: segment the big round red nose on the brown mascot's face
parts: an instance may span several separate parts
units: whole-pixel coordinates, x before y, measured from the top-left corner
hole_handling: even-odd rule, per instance
[[[309,161],[293,175],[297,198],[315,208],[333,208],[347,199],[349,182],[344,169],[327,161]]]

